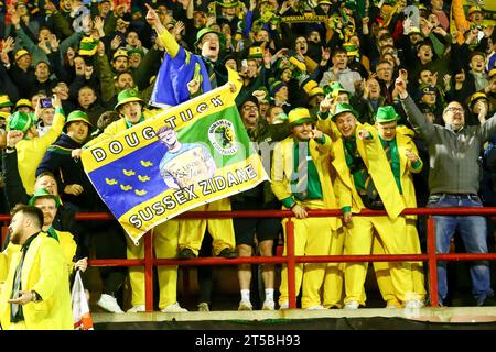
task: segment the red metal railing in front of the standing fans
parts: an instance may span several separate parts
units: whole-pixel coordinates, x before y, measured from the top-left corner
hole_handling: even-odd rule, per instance
[[[341,210],[309,210],[309,217],[341,217]],[[360,216],[386,216],[385,210],[363,210]],[[381,255],[294,255],[294,224],[291,218],[294,213],[290,210],[244,210],[244,211],[188,211],[175,219],[230,219],[230,218],[288,218],[287,229],[287,255],[285,256],[252,256],[233,260],[220,257],[200,257],[194,260],[154,258],[150,232],[144,234],[144,258],[140,260],[89,260],[93,266],[144,266],[145,282],[145,309],[153,311],[153,266],[157,265],[238,265],[238,264],[287,264],[288,267],[288,294],[289,307],[296,308],[296,294],[294,271],[296,263],[332,263],[332,262],[401,262],[422,261],[429,266],[429,296],[433,307],[438,300],[438,261],[495,261],[496,253],[450,253],[438,254],[435,252],[434,219],[432,216],[475,216],[496,215],[496,207],[484,208],[408,208],[402,215],[427,216],[427,253],[425,254],[381,254]],[[105,212],[77,213],[76,220],[109,220],[112,216]],[[0,215],[0,221],[9,221],[9,216]]]

